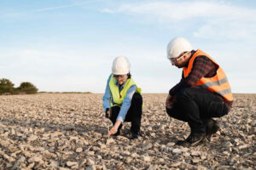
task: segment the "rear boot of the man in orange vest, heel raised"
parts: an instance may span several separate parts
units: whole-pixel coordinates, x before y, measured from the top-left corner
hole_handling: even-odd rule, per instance
[[[211,141],[212,134],[217,133],[219,130],[219,124],[212,118],[203,120],[206,126],[207,140]]]

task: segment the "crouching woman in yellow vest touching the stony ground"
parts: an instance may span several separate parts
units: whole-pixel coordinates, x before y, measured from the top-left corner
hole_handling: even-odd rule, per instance
[[[143,114],[143,97],[141,89],[131,78],[130,63],[125,57],[113,60],[112,74],[103,96],[103,108],[113,127],[108,136],[118,136],[123,122],[131,122],[131,138],[140,136],[141,118]]]

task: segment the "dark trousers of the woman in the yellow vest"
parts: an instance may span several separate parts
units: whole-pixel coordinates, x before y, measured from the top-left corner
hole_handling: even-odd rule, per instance
[[[116,122],[117,117],[119,116],[120,107],[113,106],[111,107],[111,122]],[[141,119],[143,115],[143,97],[139,93],[135,93],[131,99],[131,107],[128,110],[125,116],[125,122],[131,122],[131,133],[139,133],[141,127]],[[119,129],[121,126],[119,127]]]

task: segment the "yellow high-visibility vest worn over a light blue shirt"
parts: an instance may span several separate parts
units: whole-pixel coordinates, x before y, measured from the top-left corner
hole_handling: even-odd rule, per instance
[[[126,97],[127,91],[131,86],[136,85],[134,80],[132,78],[127,79],[125,82],[125,87],[119,92],[119,87],[116,85],[116,79],[113,77],[113,75],[110,78],[109,81],[109,88],[112,95],[112,101],[111,106],[113,105],[122,105],[124,102],[124,99]],[[142,94],[141,88],[137,88],[137,92],[139,94]]]

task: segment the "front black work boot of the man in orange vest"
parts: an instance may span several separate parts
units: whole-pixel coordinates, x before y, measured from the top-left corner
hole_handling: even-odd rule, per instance
[[[195,146],[197,144],[205,143],[206,141],[207,141],[207,138],[205,134],[195,135],[190,133],[187,139],[179,140],[175,145],[189,147],[189,146]]]

